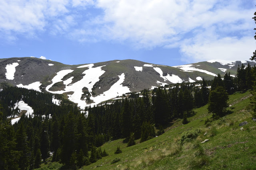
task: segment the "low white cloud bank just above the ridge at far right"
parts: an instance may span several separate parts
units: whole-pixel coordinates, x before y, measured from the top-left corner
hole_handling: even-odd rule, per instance
[[[184,61],[248,60],[255,49],[254,41],[253,37],[224,37],[184,43],[180,49],[184,54]]]

